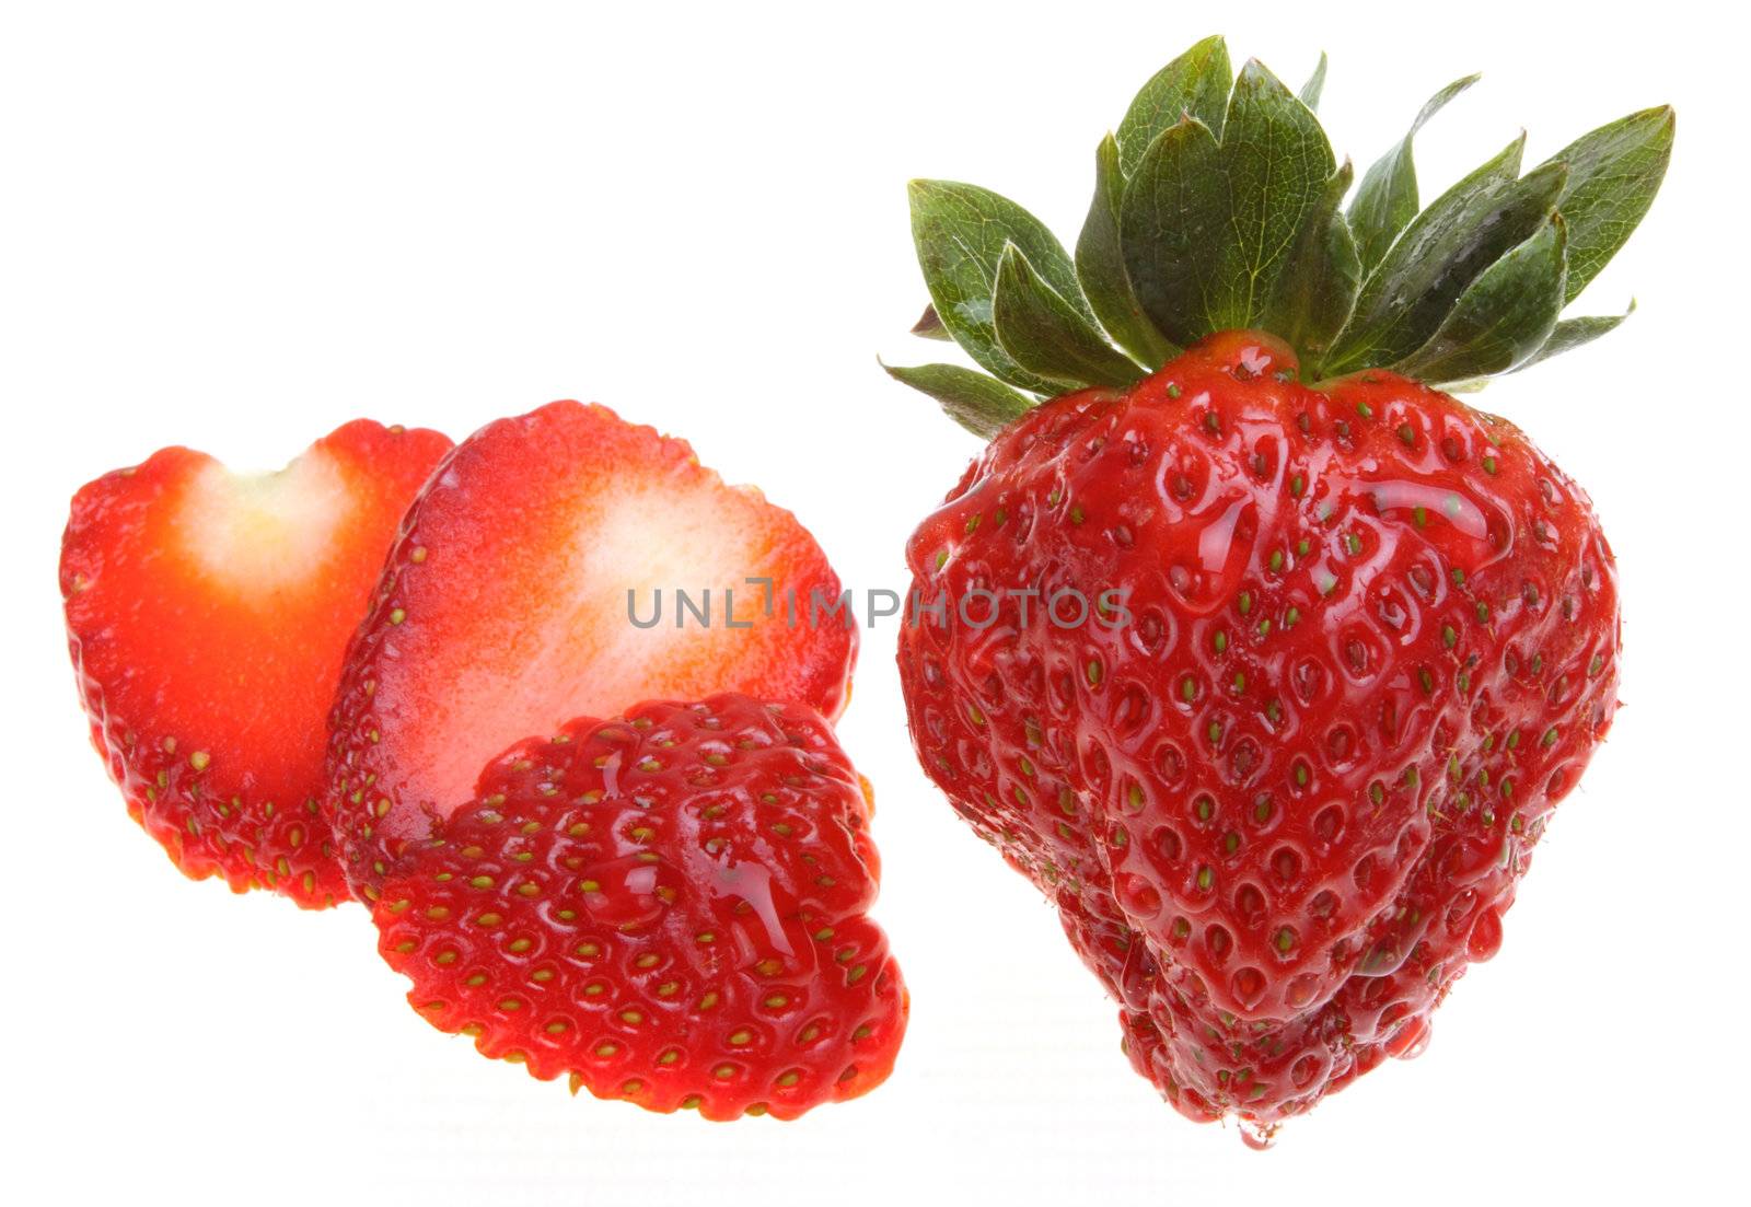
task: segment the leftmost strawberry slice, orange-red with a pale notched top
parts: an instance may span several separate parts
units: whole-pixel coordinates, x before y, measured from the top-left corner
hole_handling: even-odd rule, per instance
[[[317,802],[347,641],[450,441],[350,422],[278,475],[163,448],[74,496],[61,594],[91,741],[191,878],[350,893]]]

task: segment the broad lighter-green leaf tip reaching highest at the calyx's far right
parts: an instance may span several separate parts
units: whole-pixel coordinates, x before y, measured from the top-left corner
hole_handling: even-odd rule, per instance
[[[1557,208],[1569,222],[1569,301],[1586,289],[1653,205],[1672,158],[1677,116],[1644,109],[1581,135],[1550,158],[1569,165]]]

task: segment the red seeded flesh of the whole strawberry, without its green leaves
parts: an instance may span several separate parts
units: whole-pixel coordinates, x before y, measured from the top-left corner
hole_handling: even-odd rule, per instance
[[[1262,1128],[1420,1051],[1494,955],[1620,648],[1586,496],[1518,429],[1294,368],[1226,333],[1017,420],[912,536],[951,611],[900,639],[925,769],[1058,902],[1133,1065]]]

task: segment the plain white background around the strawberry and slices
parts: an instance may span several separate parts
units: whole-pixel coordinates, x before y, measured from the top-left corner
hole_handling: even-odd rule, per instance
[[[461,438],[553,398],[688,436],[904,589],[975,441],[876,354],[925,291],[904,182],[996,187],[1066,242],[1093,149],[1203,7],[7,5],[0,398],[7,632],[0,1195],[12,1202],[1208,1203],[1683,1196],[1744,1123],[1744,102],[1725,5],[1250,4],[1236,63],[1425,196],[1522,123],[1529,163],[1679,107],[1658,205],[1585,300],[1639,314],[1492,387],[1621,559],[1625,699],[1501,956],[1383,1069],[1247,1151],[1119,1055],[1049,909],[912,762],[895,629],[842,739],[876,781],[879,918],[914,995],[893,1079],[795,1125],[660,1118],[422,1025],[364,913],[187,883],[86,745],[67,498],[189,443],[271,468],[369,415]],[[891,622],[890,622],[891,624]],[[1725,1193],[1725,1189],[1721,1191]]]

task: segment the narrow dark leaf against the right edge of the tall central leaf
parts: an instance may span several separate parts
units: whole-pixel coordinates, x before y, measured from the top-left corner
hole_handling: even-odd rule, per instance
[[[1276,296],[1264,312],[1264,329],[1276,335],[1317,364],[1343,329],[1362,284],[1362,261],[1355,238],[1338,207],[1350,191],[1355,168],[1345,159],[1320,203],[1308,214],[1289,251],[1289,266],[1276,279]]]

